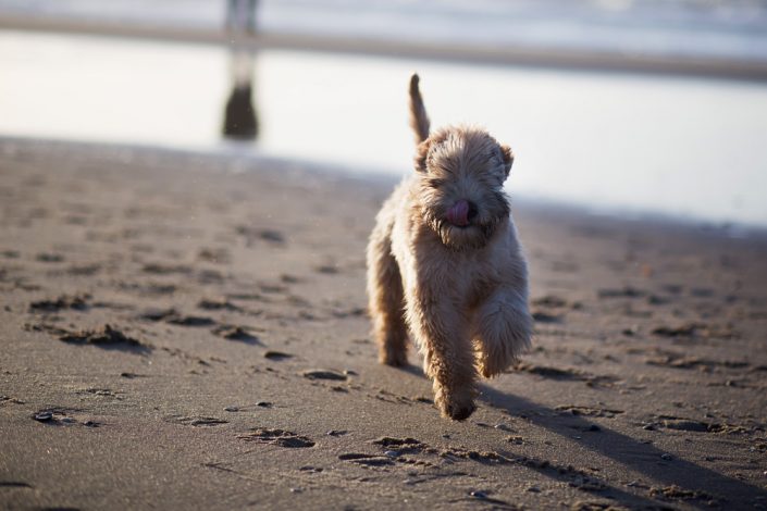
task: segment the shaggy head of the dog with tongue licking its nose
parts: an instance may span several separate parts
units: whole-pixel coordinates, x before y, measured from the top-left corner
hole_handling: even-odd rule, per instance
[[[481,248],[509,216],[503,185],[514,155],[486,132],[448,127],[418,146],[418,200],[424,221],[456,250]]]

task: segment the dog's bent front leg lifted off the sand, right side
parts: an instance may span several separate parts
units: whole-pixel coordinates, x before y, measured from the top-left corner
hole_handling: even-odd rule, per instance
[[[502,373],[530,349],[533,321],[525,298],[514,290],[495,291],[474,316],[474,342],[482,376]]]

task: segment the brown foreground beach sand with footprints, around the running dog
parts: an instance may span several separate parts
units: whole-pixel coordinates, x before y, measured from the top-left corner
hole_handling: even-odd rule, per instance
[[[0,507],[767,508],[767,238],[515,201],[534,351],[450,422],[368,335],[384,182],[0,140]]]

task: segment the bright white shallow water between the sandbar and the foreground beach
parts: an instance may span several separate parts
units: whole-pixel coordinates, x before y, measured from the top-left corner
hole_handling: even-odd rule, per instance
[[[249,59],[260,130],[233,144],[221,137],[225,48],[0,32],[0,136],[247,150],[404,175],[417,71],[434,126],[480,124],[514,148],[512,196],[767,225],[764,83],[279,50]]]

